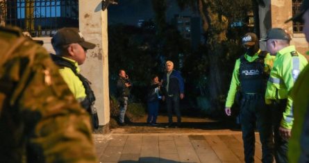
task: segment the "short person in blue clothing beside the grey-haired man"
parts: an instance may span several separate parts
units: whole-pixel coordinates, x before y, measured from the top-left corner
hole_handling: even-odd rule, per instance
[[[148,107],[148,118],[147,123],[150,125],[157,125],[157,117],[159,111],[159,103],[162,96],[160,96],[160,86],[162,83],[159,82],[159,77],[153,75],[151,78],[150,86],[147,94],[147,107]]]

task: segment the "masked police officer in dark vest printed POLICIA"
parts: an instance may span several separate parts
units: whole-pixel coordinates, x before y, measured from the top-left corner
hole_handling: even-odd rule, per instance
[[[235,62],[235,68],[228,90],[225,112],[231,116],[237,89],[242,92],[240,102],[240,123],[244,141],[244,160],[254,162],[255,135],[257,124],[262,143],[262,162],[273,162],[272,126],[269,121],[269,110],[265,107],[265,88],[273,57],[258,47],[258,38],[254,33],[242,37],[246,53]]]

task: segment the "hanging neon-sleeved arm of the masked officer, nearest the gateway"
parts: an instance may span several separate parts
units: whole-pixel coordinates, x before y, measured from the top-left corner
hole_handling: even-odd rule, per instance
[[[230,89],[228,89],[228,96],[226,98],[225,112],[226,112],[226,115],[228,116],[231,115],[231,107],[234,103],[235,94],[237,92],[237,87],[239,87],[240,85],[239,69],[240,69],[240,59],[237,59],[235,62],[233,76],[231,79]]]

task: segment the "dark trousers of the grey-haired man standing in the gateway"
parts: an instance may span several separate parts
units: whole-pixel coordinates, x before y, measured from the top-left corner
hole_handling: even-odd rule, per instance
[[[166,96],[167,115],[169,117],[169,123],[173,123],[173,108],[177,116],[177,123],[181,123],[181,110],[179,109],[179,101],[179,94],[174,94],[174,96]]]

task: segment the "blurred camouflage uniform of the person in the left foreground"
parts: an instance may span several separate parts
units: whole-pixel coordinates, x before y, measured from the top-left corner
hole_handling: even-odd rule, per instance
[[[0,162],[98,162],[90,117],[49,53],[0,28]]]

